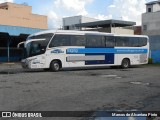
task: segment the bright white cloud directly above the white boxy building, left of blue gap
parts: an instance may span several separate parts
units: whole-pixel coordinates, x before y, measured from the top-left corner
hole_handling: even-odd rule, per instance
[[[48,8],[49,28],[62,26],[64,16],[88,15],[86,5],[93,0],[52,0],[52,7]]]

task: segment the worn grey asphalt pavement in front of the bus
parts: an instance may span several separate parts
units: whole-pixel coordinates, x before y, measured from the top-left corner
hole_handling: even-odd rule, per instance
[[[25,70],[20,64],[0,65],[0,111],[97,110],[160,111],[160,67],[49,72]]]

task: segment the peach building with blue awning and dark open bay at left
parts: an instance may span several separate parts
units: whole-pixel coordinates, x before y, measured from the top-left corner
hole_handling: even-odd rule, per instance
[[[17,44],[29,34],[48,29],[47,17],[32,14],[32,7],[14,3],[0,4],[0,62],[18,61],[21,50]]]

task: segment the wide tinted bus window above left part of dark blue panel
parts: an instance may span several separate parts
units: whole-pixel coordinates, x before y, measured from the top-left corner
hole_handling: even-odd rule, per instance
[[[88,47],[104,47],[104,39],[100,35],[87,35],[87,43]]]

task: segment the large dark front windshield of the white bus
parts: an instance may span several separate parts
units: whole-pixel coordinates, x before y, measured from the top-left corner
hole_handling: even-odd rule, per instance
[[[25,57],[44,54],[52,36],[52,33],[47,33],[28,37],[27,41],[29,42],[25,46]]]

